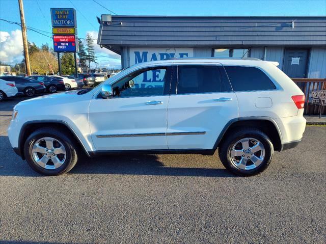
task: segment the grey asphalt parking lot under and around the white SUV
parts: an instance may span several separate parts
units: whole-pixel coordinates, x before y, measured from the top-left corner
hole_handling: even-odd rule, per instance
[[[325,243],[326,127],[262,174],[236,177],[218,155],[84,158],[35,173],[11,149],[14,104],[0,103],[0,242]]]

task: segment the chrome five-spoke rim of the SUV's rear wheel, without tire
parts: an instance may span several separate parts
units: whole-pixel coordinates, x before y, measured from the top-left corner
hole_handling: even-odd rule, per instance
[[[254,138],[243,138],[237,141],[231,149],[231,162],[241,170],[257,168],[265,157],[264,145]]]

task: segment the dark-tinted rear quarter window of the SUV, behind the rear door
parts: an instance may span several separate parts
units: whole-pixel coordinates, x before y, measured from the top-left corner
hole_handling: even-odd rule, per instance
[[[234,91],[276,89],[270,78],[260,69],[244,66],[224,66]]]

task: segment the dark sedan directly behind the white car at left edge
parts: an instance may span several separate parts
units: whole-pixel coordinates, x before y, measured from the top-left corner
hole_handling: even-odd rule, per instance
[[[1,76],[1,78],[7,80],[8,82],[14,82],[18,90],[18,95],[23,94],[25,96],[32,97],[36,93],[45,91],[45,85],[43,82],[39,82],[38,80],[28,77],[6,75]]]

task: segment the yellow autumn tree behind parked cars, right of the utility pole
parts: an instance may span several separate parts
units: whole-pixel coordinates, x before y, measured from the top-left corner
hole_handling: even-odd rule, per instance
[[[58,59],[49,51],[33,52],[30,56],[33,71],[38,74],[48,74],[58,72]]]

